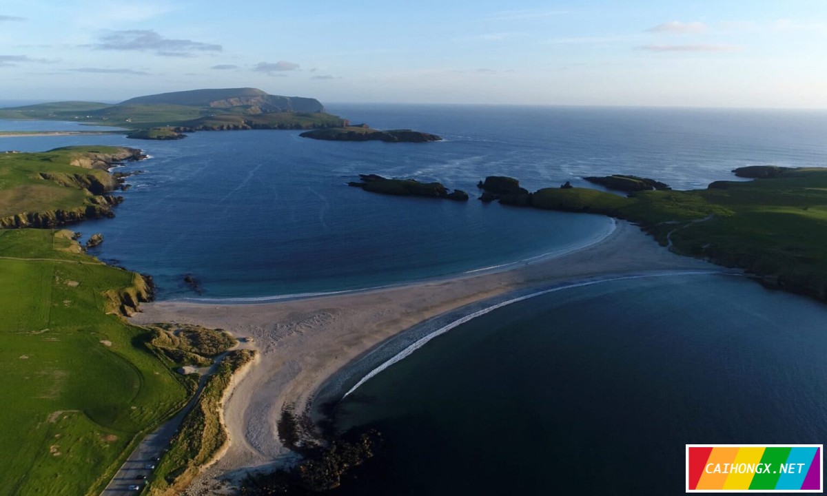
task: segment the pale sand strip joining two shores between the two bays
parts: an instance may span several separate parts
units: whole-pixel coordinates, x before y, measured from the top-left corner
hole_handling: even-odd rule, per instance
[[[216,305],[179,301],[141,306],[132,322],[222,327],[251,337],[261,358],[235,384],[224,419],[231,444],[195,486],[291,457],[276,422],[285,405],[303,411],[337,370],[390,336],[431,317],[517,289],[608,274],[720,269],[675,255],[628,222],[591,246],[518,268],[388,289],[275,303]]]

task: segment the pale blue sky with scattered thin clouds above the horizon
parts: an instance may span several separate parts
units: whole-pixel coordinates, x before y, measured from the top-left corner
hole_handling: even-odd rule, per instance
[[[0,99],[827,108],[824,0],[3,0]]]

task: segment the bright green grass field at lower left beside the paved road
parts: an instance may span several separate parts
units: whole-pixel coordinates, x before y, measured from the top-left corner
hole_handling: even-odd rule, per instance
[[[58,234],[55,236],[55,234]],[[107,314],[135,274],[103,265],[65,231],[0,231],[2,494],[98,494],[136,436],[186,389],[146,347],[151,333]]]

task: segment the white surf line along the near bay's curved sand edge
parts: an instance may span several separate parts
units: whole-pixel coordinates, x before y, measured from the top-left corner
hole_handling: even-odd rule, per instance
[[[428,341],[431,341],[433,338],[435,338],[437,336],[442,336],[442,334],[445,334],[447,331],[451,331],[454,327],[461,326],[462,324],[464,324],[466,322],[469,322],[469,321],[475,319],[476,317],[480,317],[482,315],[485,315],[486,313],[494,312],[498,308],[507,307],[508,305],[511,305],[513,303],[519,303],[519,302],[522,302],[522,301],[527,300],[529,298],[536,298],[538,296],[543,296],[543,294],[555,293],[557,291],[562,291],[563,289],[582,288],[584,286],[591,286],[593,284],[610,283],[610,282],[613,282],[613,281],[623,281],[623,280],[629,280],[629,279],[644,279],[644,278],[653,278],[653,277],[665,277],[665,276],[670,276],[670,275],[706,275],[706,274],[733,275],[734,273],[726,272],[726,271],[723,271],[723,270],[693,270],[693,271],[672,271],[672,272],[663,272],[663,273],[657,273],[657,274],[624,275],[624,276],[619,276],[619,277],[612,277],[612,278],[606,278],[606,279],[597,279],[597,280],[590,280],[590,281],[581,281],[579,283],[571,283],[571,284],[565,284],[563,286],[556,286],[556,287],[550,288],[550,289],[543,289],[543,291],[538,291],[537,293],[526,294],[526,295],[520,296],[518,298],[512,298],[512,299],[509,299],[509,300],[504,301],[502,303],[497,303],[495,305],[491,305],[490,307],[486,307],[486,308],[483,308],[481,310],[477,310],[476,312],[469,313],[465,317],[458,318],[457,320],[455,320],[454,322],[451,322],[447,326],[440,327],[436,331],[433,331],[432,333],[428,334],[428,336],[423,336],[418,341],[415,341],[413,344],[409,345],[403,351],[399,351],[399,353],[397,353],[396,355],[391,357],[390,360],[385,361],[382,365],[379,365],[374,370],[370,370],[370,372],[368,372],[368,374],[366,374],[365,377],[363,377],[359,382],[357,382],[355,386],[353,386],[351,389],[349,389],[347,391],[347,393],[344,393],[344,395],[342,396],[342,399],[347,398],[348,394],[353,393],[354,391],[356,391],[356,389],[359,389],[359,387],[362,384],[365,384],[370,379],[373,379],[377,374],[380,374],[380,372],[382,372],[383,370],[390,367],[390,365],[394,365],[399,360],[404,360],[409,355],[414,353],[414,351],[417,351],[419,348],[425,346],[425,344]]]

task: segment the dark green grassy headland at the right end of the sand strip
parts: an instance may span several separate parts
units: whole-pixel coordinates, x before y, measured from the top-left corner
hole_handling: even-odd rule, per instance
[[[546,188],[533,193],[530,204],[629,219],[679,253],[747,269],[767,284],[827,300],[827,169],[790,169],[750,182],[629,198]]]

